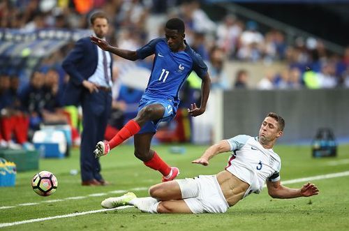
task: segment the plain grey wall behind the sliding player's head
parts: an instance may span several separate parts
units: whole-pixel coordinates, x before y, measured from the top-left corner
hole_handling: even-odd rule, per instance
[[[318,128],[332,128],[339,139],[349,137],[349,89],[236,89],[219,95],[216,103],[222,114],[217,125],[221,129],[215,131],[215,141],[239,134],[258,135],[268,112],[285,119],[279,142],[309,142]]]

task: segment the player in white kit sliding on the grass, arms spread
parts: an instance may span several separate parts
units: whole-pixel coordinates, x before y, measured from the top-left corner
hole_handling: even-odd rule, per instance
[[[272,148],[283,135],[284,127],[284,119],[270,112],[262,121],[258,137],[237,135],[222,140],[192,161],[207,166],[212,157],[232,151],[222,172],[156,184],[149,188],[148,198],[126,193],[118,198],[107,198],[101,205],[105,208],[133,205],[149,213],[223,213],[247,195],[260,193],[265,182],[272,198],[318,195],[318,188],[311,183],[302,188],[281,185],[281,159]]]

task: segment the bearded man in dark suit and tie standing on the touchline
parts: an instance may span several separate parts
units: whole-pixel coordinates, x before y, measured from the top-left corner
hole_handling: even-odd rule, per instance
[[[94,35],[104,39],[108,31],[105,13],[91,15]],[[94,158],[94,145],[103,140],[112,105],[112,56],[81,38],[64,59],[62,67],[70,79],[64,93],[65,105],[82,105],[82,141],[80,168],[83,186],[101,186],[107,182],[101,176],[101,164]]]

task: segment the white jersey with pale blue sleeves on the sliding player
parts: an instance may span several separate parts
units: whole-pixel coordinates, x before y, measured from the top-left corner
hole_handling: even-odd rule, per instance
[[[250,185],[244,197],[260,193],[265,181],[279,181],[281,159],[273,149],[265,149],[258,137],[237,135],[228,140],[232,154],[225,170]]]

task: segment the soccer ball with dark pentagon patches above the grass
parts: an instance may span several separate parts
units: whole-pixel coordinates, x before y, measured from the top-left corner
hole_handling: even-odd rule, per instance
[[[46,197],[52,195],[56,191],[58,181],[51,172],[41,171],[34,175],[31,180],[31,186],[38,195]]]

